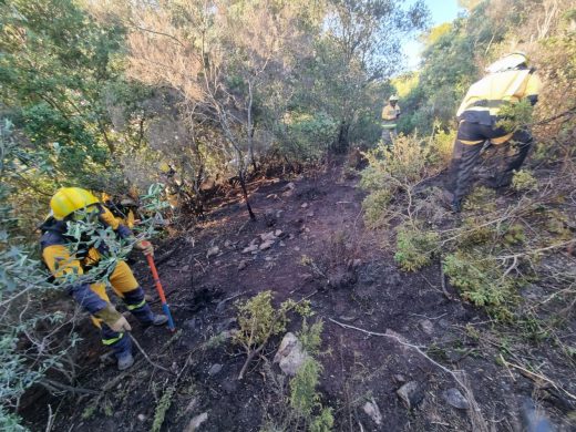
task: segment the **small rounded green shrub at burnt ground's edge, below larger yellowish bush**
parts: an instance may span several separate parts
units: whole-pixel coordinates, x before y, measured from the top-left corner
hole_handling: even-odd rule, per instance
[[[440,235],[435,232],[403,224],[398,228],[394,259],[402,270],[416,271],[430,264],[439,239]]]

